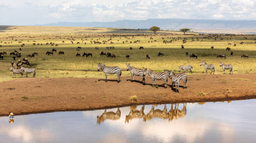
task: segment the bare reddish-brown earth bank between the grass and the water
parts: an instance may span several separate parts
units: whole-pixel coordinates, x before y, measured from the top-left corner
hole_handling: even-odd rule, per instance
[[[0,115],[52,111],[78,111],[129,106],[134,104],[160,104],[203,101],[228,101],[256,98],[256,73],[188,75],[187,89],[173,91],[168,81],[156,81],[159,88],[151,87],[146,76],[142,85],[138,76],[108,80],[96,78],[17,78],[0,83]],[[199,92],[206,95],[199,95]],[[137,101],[131,101],[131,96]],[[27,99],[22,97],[26,96]]]

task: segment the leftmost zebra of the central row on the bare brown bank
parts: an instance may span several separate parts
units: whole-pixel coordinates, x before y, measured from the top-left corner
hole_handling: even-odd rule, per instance
[[[106,67],[105,64],[98,63],[98,71],[100,69],[105,73],[106,82],[107,82],[107,74],[116,74],[118,76],[118,82],[120,82],[120,76],[122,74],[120,67]]]

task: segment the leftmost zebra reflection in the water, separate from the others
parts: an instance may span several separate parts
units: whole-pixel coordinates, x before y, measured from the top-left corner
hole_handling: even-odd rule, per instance
[[[102,115],[99,117],[97,116],[97,124],[100,124],[100,122],[103,122],[106,119],[110,119],[110,120],[118,120],[120,119],[121,116],[121,111],[118,108],[116,112],[107,112],[107,110],[105,109],[104,113],[102,113]]]

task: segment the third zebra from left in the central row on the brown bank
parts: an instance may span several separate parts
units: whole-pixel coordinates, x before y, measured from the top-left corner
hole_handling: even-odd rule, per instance
[[[146,76],[146,74],[148,74],[151,77],[151,79],[152,79],[152,87],[154,85],[156,85],[155,79],[156,80],[164,79],[164,83],[165,83],[164,88],[165,89],[167,88],[167,81],[168,81],[168,79],[167,79],[167,74],[165,72],[154,72],[151,69],[147,69],[146,68],[145,71],[144,71],[144,76]]]

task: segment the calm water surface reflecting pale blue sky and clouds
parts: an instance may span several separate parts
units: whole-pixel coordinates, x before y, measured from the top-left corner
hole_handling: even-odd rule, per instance
[[[140,110],[142,106],[137,106]],[[167,112],[171,104],[167,104]],[[174,108],[174,106],[173,106]],[[179,104],[182,110],[183,104]],[[164,109],[164,104],[155,106]],[[0,117],[2,142],[254,142],[256,140],[256,100],[231,103],[187,104],[187,114],[177,120],[133,118],[125,123],[130,107],[120,108],[119,120],[97,124],[104,110],[41,113]],[[151,110],[146,105],[144,113]],[[107,109],[116,112],[117,108]]]

